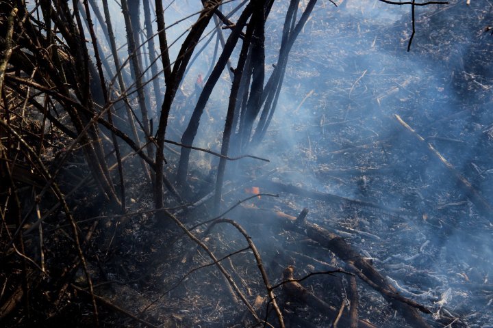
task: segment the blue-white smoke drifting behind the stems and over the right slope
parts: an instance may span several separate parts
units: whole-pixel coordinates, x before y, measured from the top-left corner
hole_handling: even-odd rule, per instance
[[[493,122],[493,37],[481,32],[493,21],[490,9],[478,1],[469,7],[464,1],[452,1],[446,6],[416,8],[416,36],[408,53],[409,5],[346,0],[335,8],[329,1],[320,2],[290,54],[266,139],[252,152],[270,159],[262,172],[279,168],[275,178],[281,182],[412,213],[396,222],[369,215],[363,228],[390,238],[385,251],[367,249],[370,242],[364,238],[353,243],[375,257],[377,267],[390,276],[394,271],[389,265],[403,262],[419,271],[419,275],[396,277],[396,284],[415,294],[433,289],[433,297],[424,300],[426,305],[438,306],[433,302],[452,288],[447,306],[459,306],[462,293],[474,295],[472,282],[482,284],[492,272],[491,218],[478,215],[448,169],[423,149],[433,143],[493,204],[492,133],[488,132]],[[235,5],[223,6],[223,12]],[[166,22],[170,25],[200,6],[198,0],[170,5]],[[278,1],[267,22],[267,77],[277,61],[280,13],[286,12],[286,6],[286,1]],[[170,46],[171,58],[179,51],[181,34],[196,19],[187,18],[166,31],[169,44],[177,40]],[[123,26],[123,21],[116,24]],[[206,33],[210,31],[214,31],[213,22]],[[229,31],[224,33],[227,37]],[[121,34],[121,42],[124,37]],[[173,137],[181,136],[188,123],[197,100],[197,76],[210,70],[214,46],[215,39],[182,81],[178,97],[184,101],[177,102],[181,105],[173,108],[170,118]],[[233,67],[237,57],[233,53]],[[230,87],[225,70],[201,118],[194,146],[219,149]],[[426,142],[409,137],[394,113]],[[216,165],[215,159],[199,152],[192,153],[191,161],[205,171]],[[237,165],[228,164],[227,178],[244,173],[236,169]],[[418,278],[410,282],[409,277]],[[478,300],[461,306],[466,312],[491,309],[485,304]],[[486,320],[490,319],[479,322]]]

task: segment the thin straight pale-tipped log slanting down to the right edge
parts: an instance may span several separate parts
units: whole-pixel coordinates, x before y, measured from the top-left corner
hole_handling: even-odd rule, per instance
[[[418,145],[421,145],[421,148],[425,150],[428,154],[431,154],[431,157],[438,159],[442,165],[447,169],[448,174],[454,178],[457,181],[457,186],[462,189],[464,193],[466,193],[466,197],[472,202],[472,204],[475,204],[476,208],[479,210],[481,215],[484,215],[485,217],[488,217],[492,213],[492,206],[484,199],[484,197],[475,189],[475,187],[472,187],[472,184],[462,176],[455,167],[451,163],[448,163],[448,161],[436,150],[431,143],[427,143],[425,138],[421,137],[414,129],[409,126],[404,120],[397,114],[394,114],[394,117],[396,120],[405,128],[405,131],[410,133],[414,138],[418,139],[421,141],[418,143]]]

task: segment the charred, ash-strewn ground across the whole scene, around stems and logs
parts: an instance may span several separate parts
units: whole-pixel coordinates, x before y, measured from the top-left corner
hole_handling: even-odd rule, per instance
[[[272,284],[282,281],[288,265],[294,266],[295,277],[345,267],[331,251],[282,225],[282,215],[296,217],[307,208],[308,222],[344,237],[401,295],[429,308],[433,314],[424,314],[429,325],[493,327],[492,216],[479,211],[427,150],[431,143],[493,204],[493,36],[483,33],[492,22],[490,7],[479,1],[466,7],[465,1],[458,1],[447,7],[420,8],[412,51],[407,53],[409,17],[392,14],[392,10],[402,14],[402,8],[353,2],[340,10],[325,3],[307,23],[290,56],[283,95],[266,141],[252,150],[271,162],[229,165],[231,182],[225,186],[223,209],[251,195],[246,191],[251,187],[279,193],[279,197],[244,202],[227,215],[257,245]],[[275,62],[274,55],[269,59]],[[213,100],[210,111],[217,105],[220,100]],[[394,114],[425,141],[407,133]],[[211,115],[211,124],[201,132],[210,139],[202,137],[198,143],[218,149],[220,139],[214,141],[214,136],[223,118]],[[176,156],[171,151],[167,156],[169,172],[174,172]],[[216,165],[208,155],[194,156],[192,202],[212,191],[210,172]],[[87,169],[81,161],[75,156],[66,174],[84,176]],[[129,168],[139,171],[138,163]],[[168,224],[166,217],[145,212],[153,203],[142,180],[136,173],[128,191],[129,210],[138,215],[101,217],[111,213],[101,210],[103,206],[87,189],[73,197],[75,215],[89,219],[81,226],[98,222],[105,227],[92,236],[86,249],[97,295],[160,327],[252,327],[251,315],[235,303],[220,272],[214,266],[202,267],[211,263],[207,254],[197,251],[196,244]],[[309,193],[281,192],[269,182],[346,200],[314,200],[307,197]],[[210,200],[171,212],[188,227],[214,216]],[[57,228],[53,222],[50,229]],[[192,231],[199,235],[204,229]],[[70,263],[57,256],[73,250],[64,232],[53,231],[45,241],[52,245],[47,263],[62,270]],[[247,245],[228,225],[216,226],[203,238],[217,258]],[[248,301],[258,305],[262,316],[267,309],[275,325],[251,251],[221,262]],[[347,308],[348,279],[340,273],[314,275],[301,284],[339,309],[342,303]],[[84,286],[83,273],[77,273],[75,281]],[[50,283],[47,278],[40,284]],[[359,318],[377,327],[412,327],[379,292],[359,279],[357,288]],[[51,295],[34,291],[41,301],[31,314],[33,322],[40,327],[91,326],[90,302],[83,292],[69,290],[56,305],[42,303]],[[332,325],[333,316],[287,297],[281,288],[275,293],[289,327]],[[105,327],[144,325],[109,305],[99,310]],[[46,318],[43,313],[50,311],[53,316]],[[17,318],[10,318],[10,323],[19,324]]]

